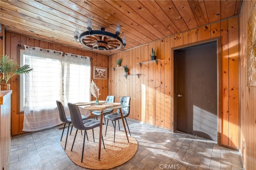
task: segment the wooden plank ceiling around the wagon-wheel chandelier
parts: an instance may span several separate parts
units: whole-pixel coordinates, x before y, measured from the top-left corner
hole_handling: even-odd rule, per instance
[[[126,47],[98,51],[112,55],[239,14],[241,0],[1,0],[1,24],[6,31],[84,49],[74,40],[76,28],[115,33],[120,24]]]

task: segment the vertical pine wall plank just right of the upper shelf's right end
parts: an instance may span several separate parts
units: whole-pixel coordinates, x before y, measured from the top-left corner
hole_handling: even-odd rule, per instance
[[[161,45],[161,52],[160,52],[160,59],[161,59],[161,62],[159,63],[160,64],[160,72],[161,72],[161,97],[160,97],[160,111],[158,112],[160,114],[160,127],[164,127],[164,109],[165,109],[165,75],[167,75],[165,73],[165,62],[166,60],[164,59],[165,58],[165,40],[161,40],[160,42],[160,45]]]

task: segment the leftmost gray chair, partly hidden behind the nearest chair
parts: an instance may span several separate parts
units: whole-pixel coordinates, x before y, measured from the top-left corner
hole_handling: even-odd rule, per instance
[[[69,127],[70,127],[70,124],[71,124],[72,122],[71,122],[70,116],[66,116],[65,111],[64,111],[64,107],[63,107],[62,103],[61,103],[60,101],[56,100],[56,104],[57,104],[58,111],[59,111],[60,121],[62,121],[62,122],[64,123],[64,127],[63,127],[62,134],[61,134],[61,138],[60,138],[60,141],[61,141],[66,124],[68,123],[68,131],[69,131]],[[87,119],[87,118],[86,118],[84,115],[82,115],[82,120],[86,120],[86,119]],[[71,132],[72,132],[72,128],[73,128],[73,125],[71,126],[70,134],[71,134]],[[64,148],[64,150],[66,149],[66,145],[67,145],[68,131],[67,131],[67,136],[66,136],[66,142],[65,142],[65,148]],[[87,136],[87,139],[88,139],[88,136]]]

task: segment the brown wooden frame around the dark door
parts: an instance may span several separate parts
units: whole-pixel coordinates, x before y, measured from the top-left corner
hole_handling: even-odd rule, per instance
[[[171,48],[171,89],[172,89],[172,103],[171,103],[171,111],[173,111],[174,116],[172,117],[174,132],[177,130],[177,112],[176,112],[176,91],[174,91],[174,50],[189,48],[196,45],[203,45],[208,42],[216,42],[217,43],[217,144],[221,145],[221,134],[222,134],[222,59],[221,59],[221,38],[210,38],[208,40],[203,40],[199,42],[189,43],[186,45],[181,45],[177,47]]]

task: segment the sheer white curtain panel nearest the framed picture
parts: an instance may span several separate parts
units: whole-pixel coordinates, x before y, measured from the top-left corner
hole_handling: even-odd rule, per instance
[[[89,102],[90,101],[90,57],[64,54],[64,110],[69,114],[68,102]],[[88,116],[90,112],[80,109],[82,115]]]

